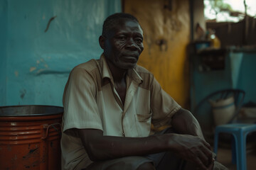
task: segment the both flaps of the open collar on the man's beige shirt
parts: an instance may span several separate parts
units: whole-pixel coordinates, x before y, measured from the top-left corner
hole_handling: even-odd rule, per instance
[[[114,83],[114,79],[112,77],[112,74],[110,72],[110,68],[107,65],[107,60],[105,58],[105,55],[100,56],[100,60],[102,60],[102,79],[108,78]],[[136,68],[137,66],[135,66]],[[137,82],[137,84],[141,84],[143,82],[142,77],[139,76],[138,72],[133,68],[129,69],[127,72],[127,76],[133,79],[134,81]]]

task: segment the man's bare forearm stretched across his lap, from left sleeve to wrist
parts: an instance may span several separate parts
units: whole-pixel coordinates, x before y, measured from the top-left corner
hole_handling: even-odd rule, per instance
[[[169,134],[168,137],[166,135],[113,137],[103,136],[101,130],[79,130],[79,133],[92,161],[164,152],[171,149],[169,142],[174,136]]]

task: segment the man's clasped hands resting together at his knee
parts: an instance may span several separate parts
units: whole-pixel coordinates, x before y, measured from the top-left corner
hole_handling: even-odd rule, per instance
[[[201,137],[173,134],[171,145],[178,157],[195,164],[198,169],[213,169],[210,145]]]

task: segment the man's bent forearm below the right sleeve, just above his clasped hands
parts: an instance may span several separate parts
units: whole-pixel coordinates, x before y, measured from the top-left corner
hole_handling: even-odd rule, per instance
[[[179,134],[194,135],[204,139],[198,120],[186,109],[181,108],[173,116],[171,125]]]

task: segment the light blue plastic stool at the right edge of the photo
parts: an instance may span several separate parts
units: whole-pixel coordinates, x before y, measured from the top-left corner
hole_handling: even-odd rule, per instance
[[[254,131],[256,131],[256,124],[231,123],[216,126],[213,152],[217,154],[218,134],[220,132],[230,133],[234,137],[235,145],[232,152],[233,162],[237,163],[238,170],[246,170],[246,137]]]

